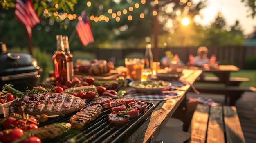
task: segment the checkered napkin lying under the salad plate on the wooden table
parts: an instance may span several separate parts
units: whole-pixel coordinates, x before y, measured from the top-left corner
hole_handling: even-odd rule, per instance
[[[161,101],[161,100],[168,100],[180,97],[180,92],[178,90],[173,90],[172,88],[169,88],[168,90],[162,91],[162,93],[141,93],[137,92],[135,90],[132,90],[127,95],[124,95],[124,98],[135,100],[149,100],[149,101]]]

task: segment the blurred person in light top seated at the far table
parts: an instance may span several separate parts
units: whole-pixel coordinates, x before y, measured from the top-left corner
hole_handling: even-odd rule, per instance
[[[199,47],[197,51],[197,56],[194,57],[195,66],[203,66],[209,63],[209,58],[207,57],[208,49],[207,47]]]

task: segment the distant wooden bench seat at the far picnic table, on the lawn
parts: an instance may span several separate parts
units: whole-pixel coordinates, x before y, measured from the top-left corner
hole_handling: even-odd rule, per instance
[[[229,78],[229,85],[230,86],[239,86],[242,82],[249,82],[250,79],[246,77],[230,77]],[[204,82],[204,83],[222,83],[219,77],[204,77],[204,79],[198,78],[197,82]]]

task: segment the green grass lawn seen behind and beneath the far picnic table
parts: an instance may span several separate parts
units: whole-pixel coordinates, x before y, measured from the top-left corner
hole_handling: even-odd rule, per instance
[[[215,76],[213,73],[206,73],[205,76]],[[256,87],[256,70],[239,70],[238,72],[231,72],[231,77],[247,77],[249,82],[243,82],[240,86],[253,86]],[[204,85],[205,83],[195,83],[196,85]],[[208,84],[212,86],[223,86],[222,84]]]

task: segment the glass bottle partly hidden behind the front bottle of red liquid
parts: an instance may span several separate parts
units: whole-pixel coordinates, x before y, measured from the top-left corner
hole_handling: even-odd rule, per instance
[[[63,44],[64,44],[64,51],[67,55],[67,80],[71,81],[72,77],[74,76],[74,64],[73,64],[73,55],[70,53],[70,46],[68,43],[68,37],[63,36]]]

